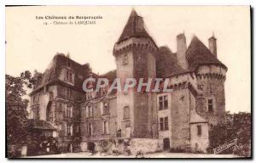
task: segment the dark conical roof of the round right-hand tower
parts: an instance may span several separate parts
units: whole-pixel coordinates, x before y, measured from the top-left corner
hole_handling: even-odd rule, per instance
[[[195,70],[198,65],[207,64],[220,65],[227,69],[197,37],[192,38],[186,52],[186,58],[190,70]]]

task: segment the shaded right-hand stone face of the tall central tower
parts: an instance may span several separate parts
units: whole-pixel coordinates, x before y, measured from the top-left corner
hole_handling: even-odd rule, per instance
[[[144,79],[144,82],[148,82],[148,78],[154,80],[156,76],[155,72],[155,57],[154,53],[144,48],[133,49],[134,58],[134,78],[137,82],[140,78]],[[145,87],[142,88],[142,91]],[[136,92],[136,90],[135,90]],[[157,121],[157,110],[155,108],[156,103],[155,93],[135,93],[134,97],[134,138],[153,138],[152,128]]]

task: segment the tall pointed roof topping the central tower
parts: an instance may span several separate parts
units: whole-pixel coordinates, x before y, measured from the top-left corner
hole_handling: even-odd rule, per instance
[[[143,25],[143,18],[138,16],[134,9],[131,11],[130,17],[118,42],[122,42],[130,37],[149,37]]]

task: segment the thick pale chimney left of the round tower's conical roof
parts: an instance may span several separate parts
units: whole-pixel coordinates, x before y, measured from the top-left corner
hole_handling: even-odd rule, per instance
[[[177,35],[177,61],[184,69],[188,69],[188,61],[186,59],[187,43],[184,33]]]

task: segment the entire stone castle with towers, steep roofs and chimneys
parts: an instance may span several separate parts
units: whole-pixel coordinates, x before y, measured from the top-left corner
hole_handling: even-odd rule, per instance
[[[217,40],[207,48],[193,37],[188,48],[177,35],[177,53],[158,47],[135,10],[113,47],[116,70],[91,72],[68,55],[57,53],[44,73],[36,72],[31,96],[34,130],[52,135],[67,149],[86,150],[89,142],[129,140],[153,148],[206,151],[210,126],[224,123],[224,81],[227,67],[217,58]],[[88,77],[123,82],[128,77],[169,79],[172,92],[84,93]],[[148,141],[147,141],[148,140]],[[152,149],[151,149],[152,150]]]

